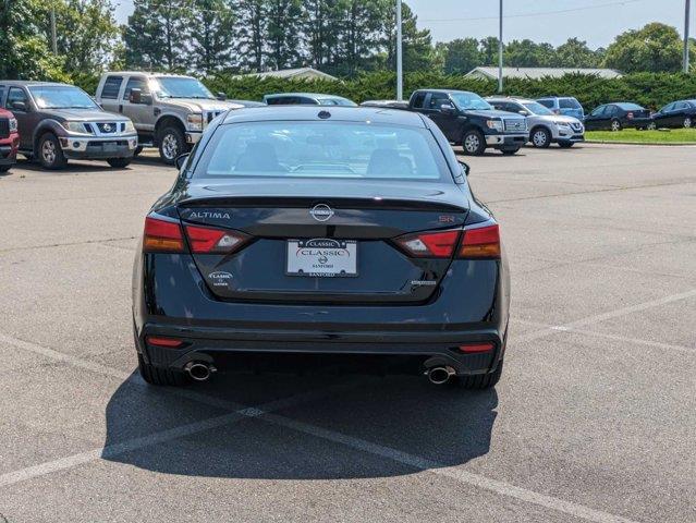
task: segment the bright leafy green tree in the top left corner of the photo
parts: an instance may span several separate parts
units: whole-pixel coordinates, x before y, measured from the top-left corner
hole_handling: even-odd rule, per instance
[[[40,0],[0,1],[0,78],[68,80],[41,31],[48,17]]]

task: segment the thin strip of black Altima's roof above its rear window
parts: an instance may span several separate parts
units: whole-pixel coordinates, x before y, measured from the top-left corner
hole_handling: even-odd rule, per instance
[[[319,118],[319,113],[330,113],[330,118]],[[272,121],[318,121],[318,122],[370,122],[426,129],[417,112],[378,107],[317,107],[317,106],[268,106],[235,109],[228,112],[222,124]]]

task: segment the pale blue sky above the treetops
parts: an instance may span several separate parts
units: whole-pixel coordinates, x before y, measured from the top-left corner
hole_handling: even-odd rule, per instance
[[[123,23],[133,11],[133,3],[117,1],[117,19]],[[437,41],[498,34],[498,0],[405,1],[418,15],[418,25],[429,28]],[[606,47],[615,35],[656,21],[676,26],[681,33],[684,1],[504,0],[504,40],[529,38],[559,45],[575,36],[587,40],[590,47]],[[696,3],[692,3],[691,33],[696,36]]]

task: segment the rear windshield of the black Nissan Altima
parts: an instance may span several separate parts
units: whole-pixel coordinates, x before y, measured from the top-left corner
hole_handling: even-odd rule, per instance
[[[193,177],[452,180],[427,129],[302,121],[218,127]]]

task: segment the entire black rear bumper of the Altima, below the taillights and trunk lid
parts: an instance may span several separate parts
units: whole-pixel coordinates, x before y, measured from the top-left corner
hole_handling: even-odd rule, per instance
[[[439,295],[413,305],[221,301],[188,255],[138,253],[133,290],[138,351],[151,365],[176,369],[205,361],[224,370],[218,361],[240,354],[267,361],[302,354],[403,361],[411,373],[434,365],[450,365],[460,375],[490,373],[503,353],[510,302],[504,258],[453,262]],[[183,344],[156,346],[149,336]],[[492,348],[460,350],[472,343]]]

